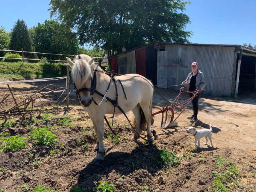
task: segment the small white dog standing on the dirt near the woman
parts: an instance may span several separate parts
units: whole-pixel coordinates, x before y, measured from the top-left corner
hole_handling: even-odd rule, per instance
[[[200,138],[205,138],[207,145],[208,138],[212,144],[212,125],[210,124],[210,130],[209,129],[201,129],[201,130],[196,130],[194,127],[190,127],[187,130],[187,133],[192,133],[194,138],[195,138],[195,145],[196,145],[196,140],[198,141],[198,148],[200,147]],[[211,145],[213,147],[213,144]]]

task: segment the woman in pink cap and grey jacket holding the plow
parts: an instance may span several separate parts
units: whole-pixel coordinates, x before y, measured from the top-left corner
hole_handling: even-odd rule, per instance
[[[192,72],[188,74],[188,77],[185,81],[182,82],[182,85],[187,87],[187,90],[189,92],[193,92],[196,90],[202,91],[204,90],[204,87],[206,86],[206,82],[204,80],[204,74],[198,70],[198,64],[197,62],[192,62],[191,64]],[[193,93],[189,93],[190,98],[193,96]],[[193,115],[188,117],[188,119],[191,119],[190,122],[198,122],[197,114],[198,114],[198,99],[200,96],[200,92],[194,97],[192,100],[193,105]]]

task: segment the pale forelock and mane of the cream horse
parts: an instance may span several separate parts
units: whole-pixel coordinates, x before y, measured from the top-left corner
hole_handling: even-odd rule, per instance
[[[93,72],[93,67],[96,68],[97,65],[94,62],[89,65],[88,62],[92,59],[90,56],[86,54],[80,54],[81,59],[78,58],[78,55],[74,58],[74,66],[72,67],[71,76],[76,84],[76,86],[82,86],[88,78],[90,78],[90,74]],[[98,66],[98,72],[104,73],[104,70]]]

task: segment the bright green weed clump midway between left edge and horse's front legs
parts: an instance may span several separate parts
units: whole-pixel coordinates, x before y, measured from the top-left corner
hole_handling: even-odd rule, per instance
[[[53,146],[57,143],[56,135],[52,134],[47,127],[34,129],[30,140],[36,140],[33,145]]]

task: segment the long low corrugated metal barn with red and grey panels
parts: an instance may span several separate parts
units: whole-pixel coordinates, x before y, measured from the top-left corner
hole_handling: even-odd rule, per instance
[[[202,94],[235,96],[256,91],[256,50],[241,45],[152,42],[108,57],[117,74],[136,73],[154,86],[180,90],[197,62],[204,73]]]

